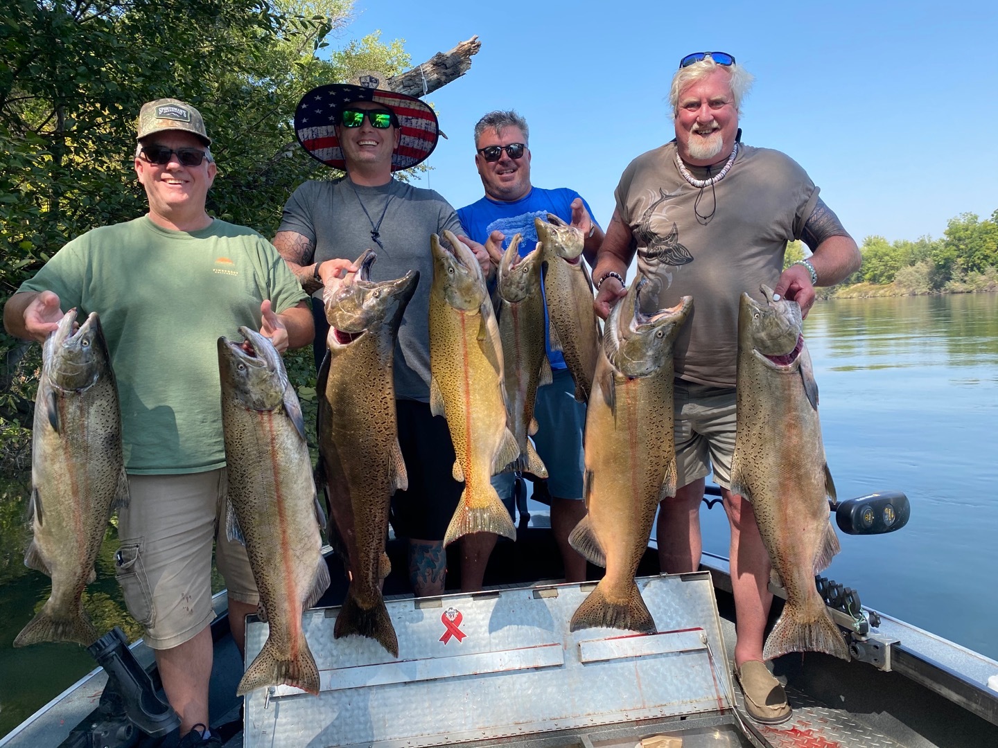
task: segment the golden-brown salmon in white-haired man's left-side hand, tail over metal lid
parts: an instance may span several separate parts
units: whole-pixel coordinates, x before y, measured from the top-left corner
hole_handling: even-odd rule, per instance
[[[608,626],[655,633],[634,577],[659,502],[676,495],[673,345],[693,309],[684,296],[646,315],[657,283],[636,278],[610,312],[586,416],[588,514],[569,543],[606,574],[572,616],[571,630]]]

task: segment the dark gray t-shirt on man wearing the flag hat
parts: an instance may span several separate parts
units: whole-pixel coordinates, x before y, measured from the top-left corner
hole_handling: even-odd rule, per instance
[[[371,238],[374,226],[383,249]],[[394,179],[387,185],[362,187],[348,178],[306,182],[295,189],[277,229],[300,233],[312,242],[313,256],[305,257],[303,264],[334,257],[353,260],[370,248],[377,252],[371,280],[400,278],[419,270],[419,285],[405,310],[395,347],[395,397],[400,400],[429,402],[430,234],[439,235],[444,229],[464,234],[454,208],[432,189]],[[321,293],[319,289],[314,295],[321,298]]]

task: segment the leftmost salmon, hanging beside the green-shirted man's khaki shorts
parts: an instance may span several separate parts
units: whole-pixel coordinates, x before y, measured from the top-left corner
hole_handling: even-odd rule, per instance
[[[112,510],[128,503],[108,347],[96,312],[74,334],[75,321],[70,309],[45,340],[31,434],[34,539],[24,563],[52,577],[52,593],[14,646],[97,640],[81,595],[96,578]]]

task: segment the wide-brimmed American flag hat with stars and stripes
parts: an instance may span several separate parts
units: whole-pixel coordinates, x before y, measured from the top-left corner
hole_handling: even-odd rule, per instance
[[[385,80],[378,73],[363,73],[350,83],[314,88],[301,97],[294,111],[294,133],[308,154],[326,166],[346,170],[336,138],[336,114],[353,102],[374,102],[395,113],[401,135],[391,155],[391,171],[411,169],[425,161],[440,138],[436,113],[428,104],[405,94],[379,89]]]

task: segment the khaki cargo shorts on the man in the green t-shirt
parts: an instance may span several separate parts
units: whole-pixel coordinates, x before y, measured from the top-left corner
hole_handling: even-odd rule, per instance
[[[129,612],[153,649],[188,641],[215,617],[212,547],[230,599],[259,602],[247,550],[226,539],[226,469],[130,475],[118,513],[116,575]]]

